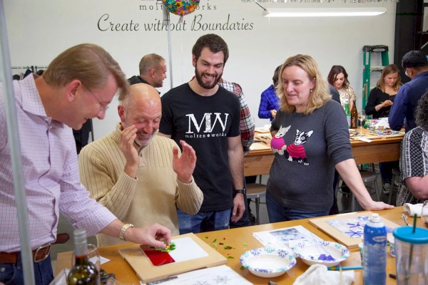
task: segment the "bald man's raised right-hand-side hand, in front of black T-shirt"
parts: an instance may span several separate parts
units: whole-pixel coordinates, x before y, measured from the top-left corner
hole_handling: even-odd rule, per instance
[[[180,157],[178,157],[178,147],[173,147],[173,170],[177,174],[178,180],[190,183],[196,165],[196,152],[184,140],[180,140],[180,145],[183,147]]]

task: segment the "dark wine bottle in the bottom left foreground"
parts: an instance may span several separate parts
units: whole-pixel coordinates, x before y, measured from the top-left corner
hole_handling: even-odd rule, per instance
[[[75,264],[67,276],[68,285],[83,284],[101,284],[100,274],[95,264],[89,261],[88,240],[86,239],[85,229],[75,229],[74,237],[74,256]]]

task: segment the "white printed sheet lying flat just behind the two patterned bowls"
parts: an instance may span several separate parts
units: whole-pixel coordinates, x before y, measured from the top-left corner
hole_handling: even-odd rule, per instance
[[[265,247],[285,249],[293,247],[297,243],[305,242],[313,244],[322,240],[316,234],[312,234],[312,232],[302,226],[285,227],[265,232],[254,232],[253,236]]]

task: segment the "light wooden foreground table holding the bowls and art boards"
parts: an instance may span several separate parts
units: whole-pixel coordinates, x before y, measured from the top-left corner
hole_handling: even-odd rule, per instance
[[[403,213],[402,207],[395,207],[394,209],[388,209],[379,211],[378,213],[384,217],[385,219],[389,219],[400,226],[404,226],[404,222],[401,219],[401,215]],[[410,217],[409,223],[412,224],[413,220]],[[225,229],[217,232],[204,232],[197,234],[200,239],[203,239],[207,244],[212,244],[214,239],[218,241],[222,241],[225,245],[233,247],[233,249],[224,249],[224,247],[217,247],[218,252],[223,254],[225,257],[234,257],[233,259],[228,259],[228,266],[234,271],[238,272],[241,276],[243,276],[248,281],[253,284],[265,285],[267,281],[272,280],[277,282],[277,284],[292,284],[297,276],[300,276],[305,270],[308,268],[306,264],[304,264],[300,259],[297,259],[297,264],[292,267],[286,274],[272,278],[272,279],[264,279],[258,276],[251,274],[247,269],[241,270],[240,264],[240,255],[246,252],[249,249],[253,249],[256,247],[263,247],[257,239],[253,237],[253,232],[261,232],[272,229],[280,229],[284,227],[292,227],[296,225],[302,225],[306,229],[310,230],[317,234],[318,237],[333,241],[330,236],[322,232],[320,229],[312,226],[309,223],[308,219],[300,219],[290,222],[279,222],[275,224],[261,224],[253,227],[241,227],[237,229]],[[420,218],[417,218],[417,226],[424,227]],[[208,239],[205,239],[208,237]],[[247,245],[245,245],[247,244]],[[111,259],[111,261],[103,264],[101,267],[105,269],[109,273],[116,274],[116,279],[123,283],[127,284],[139,284],[138,277],[134,273],[131,266],[129,266],[126,261],[121,257],[118,253],[118,248],[120,247],[128,247],[130,244],[121,244],[115,245],[111,247],[101,247],[99,252],[101,256],[106,257],[107,259]],[[212,245],[211,245],[212,246]],[[360,253],[358,249],[351,249],[351,256],[346,261],[342,262],[342,266],[356,266],[361,265]],[[58,254],[58,259],[56,261],[56,274],[63,268],[69,268],[71,265],[71,252],[62,252]],[[389,254],[387,254],[387,274],[395,273],[395,259],[392,258]],[[355,285],[362,284],[362,270],[355,271]],[[387,284],[396,284],[394,279],[387,277]]]

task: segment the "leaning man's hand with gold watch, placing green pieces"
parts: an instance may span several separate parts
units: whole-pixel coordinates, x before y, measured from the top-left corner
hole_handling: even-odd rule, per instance
[[[130,227],[125,232],[125,240],[164,249],[166,245],[171,243],[171,231],[160,224],[152,224],[148,227],[139,228]],[[166,242],[166,245],[163,242]]]

